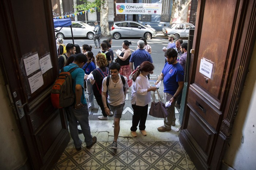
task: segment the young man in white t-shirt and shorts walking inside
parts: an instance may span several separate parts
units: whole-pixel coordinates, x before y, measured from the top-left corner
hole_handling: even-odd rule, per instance
[[[107,87],[107,77],[103,79],[102,82],[102,102],[104,105],[105,113],[110,115],[110,110],[114,113],[114,141],[112,144],[112,149],[117,149],[117,138],[120,131],[120,119],[124,110],[124,100],[127,88],[129,87],[127,84],[127,78],[124,76],[125,79],[125,88],[124,84],[121,80],[120,73],[120,64],[112,63],[109,66],[110,70],[110,79],[109,85]],[[108,92],[108,104],[109,108],[106,103],[106,93]]]

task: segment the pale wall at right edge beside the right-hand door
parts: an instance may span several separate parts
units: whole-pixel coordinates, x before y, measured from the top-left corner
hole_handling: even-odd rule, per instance
[[[236,170],[256,169],[256,43],[231,132],[225,163]]]

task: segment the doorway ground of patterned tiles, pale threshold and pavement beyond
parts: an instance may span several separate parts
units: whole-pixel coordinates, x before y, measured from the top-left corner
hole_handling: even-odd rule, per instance
[[[195,170],[193,162],[185,150],[181,150],[176,129],[159,132],[157,127],[163,125],[163,119],[148,115],[146,122],[147,136],[137,130],[137,137],[132,137],[132,107],[129,92],[125,100],[125,108],[120,121],[120,133],[117,141],[117,151],[111,149],[114,137],[113,117],[109,120],[99,120],[102,115],[95,101],[95,109],[89,111],[91,134],[97,137],[97,143],[91,149],[86,149],[82,143],[82,150],[76,151],[72,139],[61,158],[56,163],[55,170]],[[153,96],[153,94],[151,95]],[[150,108],[150,106],[149,106]],[[149,110],[149,109],[148,109]],[[178,118],[176,109],[176,118]],[[79,127],[80,129],[80,127]],[[84,141],[83,135],[79,135]],[[186,158],[187,157],[187,158]]]

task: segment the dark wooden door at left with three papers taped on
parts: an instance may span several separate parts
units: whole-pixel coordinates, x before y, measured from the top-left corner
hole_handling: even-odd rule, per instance
[[[50,169],[70,137],[50,90],[59,72],[50,0],[3,0],[0,63],[32,169]],[[41,64],[39,64],[41,63]]]

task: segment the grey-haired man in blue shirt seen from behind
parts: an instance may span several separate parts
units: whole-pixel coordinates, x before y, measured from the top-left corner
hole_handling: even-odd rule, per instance
[[[139,49],[134,51],[130,58],[131,72],[133,72],[141,63],[145,61],[153,63],[151,55],[144,49],[145,42],[143,40],[139,40],[137,44]],[[133,69],[133,63],[134,63],[134,69]]]

